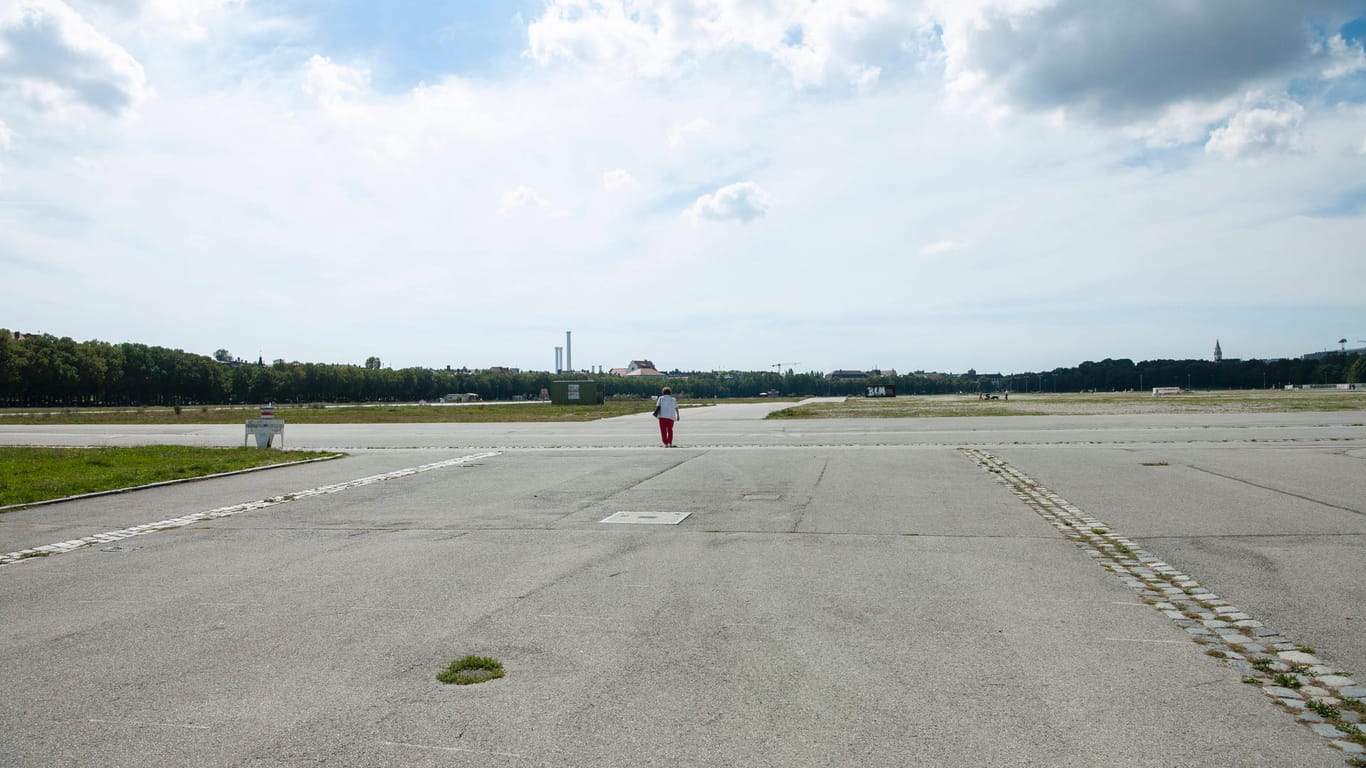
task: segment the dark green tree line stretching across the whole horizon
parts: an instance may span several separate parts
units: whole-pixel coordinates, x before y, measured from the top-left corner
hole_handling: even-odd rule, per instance
[[[821,373],[705,372],[665,380],[587,373],[391,369],[366,365],[273,364],[234,359],[227,350],[206,357],[165,347],[75,342],[51,335],[16,338],[0,328],[0,406],[173,406],[198,403],[352,403],[436,400],[474,394],[485,400],[534,399],[552,380],[601,383],[609,398],[647,398],[661,385],[690,399],[780,395],[862,395],[895,387],[899,395],[949,392],[1127,391],[1152,387],[1258,389],[1366,381],[1366,355],[1318,359],[1224,361],[1130,359],[1083,362],[1030,373],[899,374],[828,379]]]

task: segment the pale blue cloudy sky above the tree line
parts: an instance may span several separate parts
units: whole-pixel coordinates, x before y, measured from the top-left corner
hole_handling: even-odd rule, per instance
[[[0,328],[1027,372],[1366,344],[1366,0],[0,0]]]

